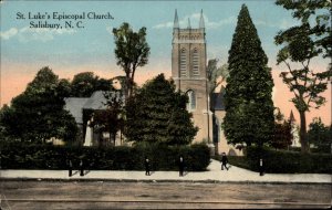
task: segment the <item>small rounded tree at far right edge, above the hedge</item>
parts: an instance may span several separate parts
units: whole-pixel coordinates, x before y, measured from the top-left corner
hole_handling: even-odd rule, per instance
[[[317,146],[319,150],[324,150],[324,148],[331,148],[331,138],[332,126],[325,126],[320,117],[313,118],[308,130],[309,143]]]

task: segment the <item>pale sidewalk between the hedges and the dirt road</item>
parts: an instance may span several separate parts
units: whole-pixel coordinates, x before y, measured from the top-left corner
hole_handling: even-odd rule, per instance
[[[179,177],[178,171],[145,171],[125,170],[92,170],[85,171],[80,177],[73,170],[73,176],[68,176],[68,170],[1,170],[0,179],[3,180],[63,180],[63,181],[188,181],[188,182],[262,182],[262,183],[331,183],[332,175],[328,174],[266,174],[259,176],[242,168],[231,166],[229,170],[220,170],[221,164],[211,160],[208,171],[188,172]]]

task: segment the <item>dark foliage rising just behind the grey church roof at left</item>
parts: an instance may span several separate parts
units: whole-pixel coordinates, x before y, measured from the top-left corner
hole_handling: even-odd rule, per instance
[[[71,83],[72,97],[90,97],[95,91],[110,91],[112,81],[100,78],[93,72],[82,72],[74,75]]]

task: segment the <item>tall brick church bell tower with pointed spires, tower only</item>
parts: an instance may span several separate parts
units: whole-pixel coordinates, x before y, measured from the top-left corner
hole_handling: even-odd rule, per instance
[[[211,143],[212,117],[209,108],[203,10],[198,29],[191,28],[189,19],[187,28],[180,29],[175,11],[172,45],[172,77],[176,87],[188,95],[187,109],[193,113],[194,124],[199,128],[194,141]]]

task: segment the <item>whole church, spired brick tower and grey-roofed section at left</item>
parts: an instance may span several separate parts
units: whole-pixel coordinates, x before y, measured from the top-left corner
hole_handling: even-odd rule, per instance
[[[193,122],[198,127],[194,143],[205,141],[212,154],[242,155],[239,147],[227,144],[221,129],[225,117],[225,88],[209,95],[207,76],[207,41],[203,11],[198,28],[191,28],[188,19],[187,28],[179,27],[177,11],[175,11],[173,42],[172,42],[172,77],[177,90],[188,95],[187,111],[193,114]],[[210,96],[212,98],[210,98]],[[85,146],[100,145],[110,141],[110,136],[100,136],[95,127],[91,127],[93,117],[84,118],[84,113],[104,111],[105,97],[103,92],[95,92],[86,98],[65,98],[65,108],[75,117],[81,130],[81,139]],[[92,115],[93,116],[93,115]],[[98,135],[98,136],[96,136]],[[123,145],[122,135],[116,136],[114,144]]]

